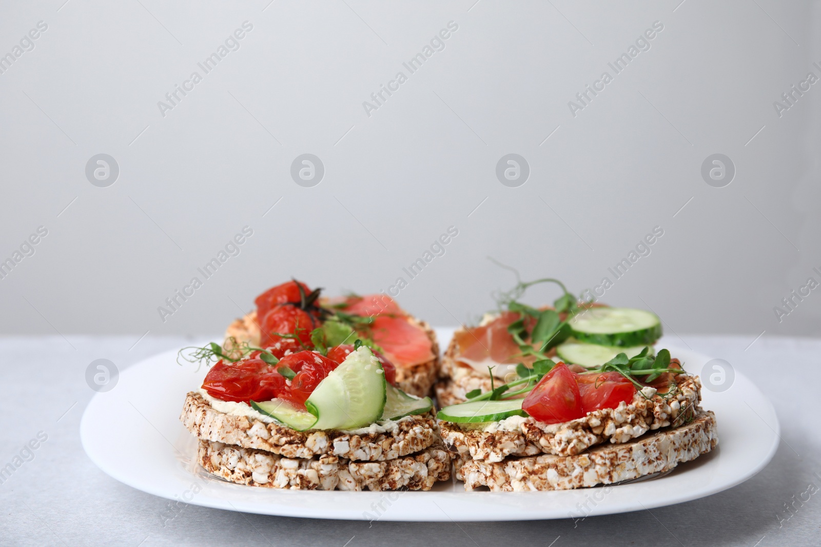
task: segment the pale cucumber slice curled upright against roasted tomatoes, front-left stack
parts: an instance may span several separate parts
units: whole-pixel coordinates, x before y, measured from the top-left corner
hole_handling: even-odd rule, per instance
[[[351,352],[316,386],[305,408],[318,419],[313,429],[369,426],[385,408],[385,371],[366,346]]]

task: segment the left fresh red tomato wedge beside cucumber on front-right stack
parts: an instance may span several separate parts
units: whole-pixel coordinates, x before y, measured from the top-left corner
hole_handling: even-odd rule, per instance
[[[576,374],[565,363],[557,363],[527,394],[521,408],[545,423],[568,422],[585,416]]]

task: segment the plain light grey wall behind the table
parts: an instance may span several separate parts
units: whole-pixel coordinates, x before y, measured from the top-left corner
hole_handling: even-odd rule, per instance
[[[48,230],[0,280],[4,333],[213,334],[290,276],[332,293],[403,277],[406,308],[456,324],[513,281],[488,255],[576,292],[608,276],[604,301],[653,308],[668,332],[819,333],[821,290],[773,312],[821,281],[821,84],[773,107],[821,77],[812,2],[63,1],[0,7],[0,54],[48,25],[0,74],[0,258]],[[654,21],[649,50],[615,74]],[[202,81],[163,116],[193,71]],[[603,71],[612,82],[574,116]],[[108,187],[85,175],[99,153],[120,169]],[[325,170],[311,188],[291,179],[303,153]],[[496,176],[508,153],[530,166],[516,188]],[[732,184],[703,180],[713,153],[732,159]],[[197,268],[244,226],[240,254],[205,280]],[[446,253],[410,280],[402,268],[449,226]],[[655,226],[652,252],[615,280],[608,267]]]

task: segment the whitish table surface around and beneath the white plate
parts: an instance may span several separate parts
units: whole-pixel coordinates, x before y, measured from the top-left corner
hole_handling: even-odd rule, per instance
[[[752,340],[669,339],[726,359],[773,401],[782,444],[773,462],[742,485],[652,513],[580,522],[369,526],[195,505],[177,509],[167,499],[122,485],[90,462],[79,435],[80,417],[94,394],[85,382],[89,363],[108,358],[122,371],[190,340],[146,337],[134,345],[131,336],[0,338],[0,467],[40,431],[48,435],[32,451],[34,458],[0,484],[0,545],[821,545],[821,340],[764,337],[745,350]]]

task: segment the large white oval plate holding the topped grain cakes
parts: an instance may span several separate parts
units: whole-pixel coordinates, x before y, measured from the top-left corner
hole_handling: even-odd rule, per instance
[[[452,329],[438,330],[447,342]],[[443,344],[447,347],[447,344]],[[227,483],[197,467],[195,440],[178,417],[205,370],[161,353],[122,372],[113,390],[94,395],[80,435],[89,458],[108,475],[149,494],[188,504],[288,517],[388,521],[508,521],[589,517],[679,504],[746,481],[773,458],[779,426],[773,405],[736,372],[723,393],[703,390],[718,420],[719,448],[667,476],[612,487],[557,492],[465,492],[439,483],[429,492],[273,490]],[[690,372],[709,358],[675,349]],[[750,412],[752,411],[752,412]]]

